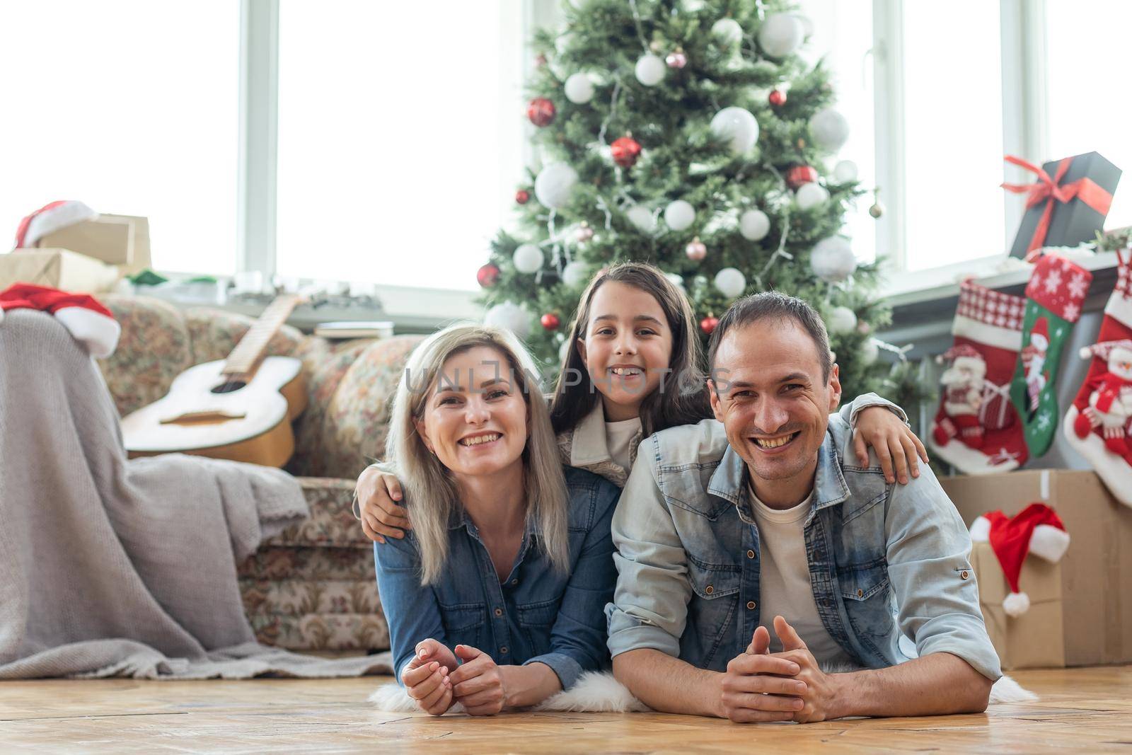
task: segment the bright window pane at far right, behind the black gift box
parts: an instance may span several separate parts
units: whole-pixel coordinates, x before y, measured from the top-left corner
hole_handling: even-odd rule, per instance
[[[1109,229],[1132,225],[1132,102],[1113,86],[1127,70],[1129,28],[1132,3],[1046,3],[1049,148],[1045,158],[1099,152],[1124,170],[1105,223]]]

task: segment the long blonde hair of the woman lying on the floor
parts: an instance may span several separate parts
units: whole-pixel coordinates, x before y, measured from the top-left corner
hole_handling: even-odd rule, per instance
[[[435,583],[440,576],[448,555],[448,523],[457,513],[460,500],[452,473],[424,446],[414,420],[423,421],[428,397],[440,379],[445,361],[475,346],[503,354],[507,364],[500,364],[498,374],[511,379],[513,389],[523,392],[529,428],[522,456],[526,522],[533,524],[538,546],[551,565],[561,572],[569,568],[566,479],[550,427],[550,412],[539,386],[538,367],[511,331],[457,324],[434,333],[410,354],[393,400],[385,443],[385,457],[396,464],[409,521],[420,547],[421,584]]]

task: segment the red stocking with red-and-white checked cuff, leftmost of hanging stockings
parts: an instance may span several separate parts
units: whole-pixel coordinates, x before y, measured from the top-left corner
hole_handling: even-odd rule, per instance
[[[1029,458],[1022,423],[1010,403],[1010,381],[1022,344],[1026,300],[971,281],[959,288],[943,359],[940,410],[929,444],[943,461],[968,474],[1009,472]]]

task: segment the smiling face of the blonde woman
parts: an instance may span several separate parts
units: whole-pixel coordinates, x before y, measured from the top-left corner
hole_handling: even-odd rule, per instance
[[[526,401],[497,349],[475,346],[445,360],[413,420],[426,447],[457,475],[492,474],[522,464]]]

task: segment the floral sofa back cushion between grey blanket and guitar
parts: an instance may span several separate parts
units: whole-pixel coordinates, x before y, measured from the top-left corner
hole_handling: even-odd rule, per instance
[[[106,294],[101,301],[122,327],[118,349],[98,360],[118,413],[126,415],[166,393],[173,378],[192,366],[185,318],[160,299]]]

